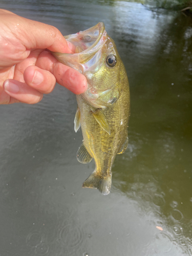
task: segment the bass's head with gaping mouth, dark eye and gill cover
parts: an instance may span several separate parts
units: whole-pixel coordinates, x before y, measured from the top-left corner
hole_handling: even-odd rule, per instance
[[[87,78],[88,90],[82,94],[95,108],[106,108],[119,97],[122,61],[115,42],[104,24],[65,36],[75,47],[74,54],[52,54],[63,64]]]

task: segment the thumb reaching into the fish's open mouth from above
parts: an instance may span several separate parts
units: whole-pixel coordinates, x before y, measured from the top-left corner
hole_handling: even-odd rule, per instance
[[[61,32],[44,23],[20,17],[12,12],[0,10],[3,23],[8,25],[14,36],[26,49],[45,49],[53,52],[72,53],[73,46],[66,41]],[[15,30],[15,25],[17,29]],[[16,31],[16,32],[15,32]]]

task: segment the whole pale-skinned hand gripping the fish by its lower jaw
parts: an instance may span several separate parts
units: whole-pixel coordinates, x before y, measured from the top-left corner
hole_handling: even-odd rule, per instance
[[[55,27],[0,9],[0,104],[37,103],[56,82],[75,94],[87,90],[86,77],[47,49],[75,51]]]

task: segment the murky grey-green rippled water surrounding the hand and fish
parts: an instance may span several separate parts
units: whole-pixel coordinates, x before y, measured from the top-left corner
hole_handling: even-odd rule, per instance
[[[0,255],[192,255],[191,19],[124,1],[0,3],[63,34],[104,22],[131,88],[109,196],[81,187],[94,163],[76,160],[71,92],[0,106]]]

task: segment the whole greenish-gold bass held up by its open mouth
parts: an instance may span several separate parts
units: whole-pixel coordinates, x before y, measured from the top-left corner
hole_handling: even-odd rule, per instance
[[[75,53],[52,54],[86,76],[88,82],[87,91],[76,95],[74,129],[77,132],[81,126],[83,135],[77,160],[86,164],[94,159],[95,170],[82,186],[108,195],[115,157],[128,145],[130,87],[126,70],[102,22],[65,38],[76,47]]]

